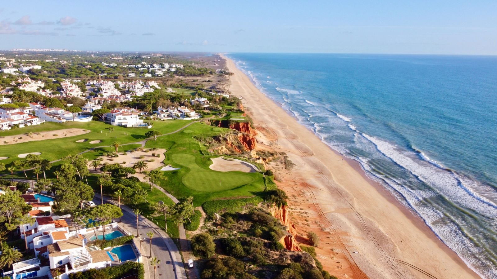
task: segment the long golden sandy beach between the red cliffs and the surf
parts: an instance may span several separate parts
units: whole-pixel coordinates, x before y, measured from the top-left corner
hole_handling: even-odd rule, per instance
[[[226,59],[226,57],[224,57]],[[243,98],[259,148],[284,151],[295,166],[276,169],[290,197],[298,241],[319,232],[320,261],[338,278],[480,278],[359,165],[333,151],[262,94],[227,59],[230,91]]]

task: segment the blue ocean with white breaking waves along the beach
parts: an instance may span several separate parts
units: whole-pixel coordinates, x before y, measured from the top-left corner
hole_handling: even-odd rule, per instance
[[[228,57],[470,268],[497,278],[497,57]]]

